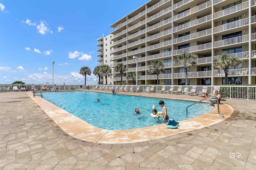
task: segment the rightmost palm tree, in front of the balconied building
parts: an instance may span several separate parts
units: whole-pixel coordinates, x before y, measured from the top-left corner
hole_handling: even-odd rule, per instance
[[[240,59],[237,56],[230,57],[228,53],[223,53],[220,56],[220,61],[217,59],[213,60],[213,69],[224,70],[225,72],[225,84],[228,84],[228,69],[232,66],[238,66],[241,63]]]

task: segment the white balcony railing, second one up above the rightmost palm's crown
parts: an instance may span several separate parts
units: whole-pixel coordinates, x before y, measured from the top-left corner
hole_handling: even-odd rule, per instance
[[[238,20],[238,21],[234,21],[234,22],[231,22],[231,23],[226,23],[226,24],[214,27],[213,28],[213,33],[226,31],[226,30],[233,29],[233,28],[236,28],[236,27],[242,27],[242,26],[248,25],[248,24],[249,24],[249,18],[244,18],[242,20]]]

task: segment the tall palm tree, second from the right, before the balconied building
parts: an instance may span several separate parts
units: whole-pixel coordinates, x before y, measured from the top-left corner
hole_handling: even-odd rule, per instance
[[[197,55],[193,55],[192,53],[183,52],[177,56],[177,59],[173,63],[175,68],[180,65],[183,65],[183,68],[185,70],[185,76],[186,76],[185,85],[188,85],[188,65],[195,65],[197,58],[198,58]]]

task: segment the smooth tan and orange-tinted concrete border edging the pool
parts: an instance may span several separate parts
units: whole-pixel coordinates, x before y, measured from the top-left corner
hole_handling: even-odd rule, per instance
[[[89,90],[87,90],[89,91]],[[92,92],[106,92],[100,90],[90,90]],[[198,117],[180,121],[177,129],[168,129],[166,124],[156,125],[152,127],[144,127],[138,129],[129,130],[106,130],[95,127],[86,121],[68,113],[64,109],[48,102],[47,100],[40,98],[39,96],[33,97],[31,92],[26,92],[38,106],[40,106],[45,113],[66,133],[72,137],[92,142],[92,143],[136,143],[143,141],[150,141],[154,139],[161,139],[170,135],[176,135],[178,133],[184,133],[195,129],[200,129],[210,125],[214,125],[224,119],[228,118],[232,113],[232,107],[226,104],[220,104],[220,113],[224,117],[220,117],[217,107],[215,107],[209,113],[200,115]],[[107,93],[110,93],[107,91]],[[120,93],[132,96],[148,96],[161,99],[170,99],[169,94],[144,94],[144,93]],[[117,94],[118,95],[118,94]],[[172,95],[173,96],[173,95]],[[185,96],[185,95],[182,95]],[[175,96],[174,96],[175,97]],[[172,98],[177,99],[177,98]],[[198,100],[201,98],[198,97]],[[191,99],[183,99],[189,101],[196,101]],[[207,100],[208,101],[208,100]],[[168,108],[171,109],[171,108]],[[171,115],[169,115],[171,118]]]

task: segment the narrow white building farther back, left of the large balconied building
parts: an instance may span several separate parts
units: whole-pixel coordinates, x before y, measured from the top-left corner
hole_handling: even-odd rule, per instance
[[[112,38],[112,34],[104,37],[104,34],[102,37],[100,37],[99,39],[97,39],[97,41],[99,41],[97,43],[97,56],[98,56],[98,59],[97,61],[100,62],[99,65],[104,65],[104,64],[107,64],[110,66],[112,72],[113,72],[113,61],[110,60],[110,58],[112,57],[112,54],[111,54],[111,50],[112,50],[112,43],[113,41],[111,41],[110,39]],[[113,84],[113,78],[112,78],[113,75],[110,75],[107,77],[107,83],[108,84]],[[106,79],[104,77],[100,77],[100,82],[101,84],[106,84]]]

